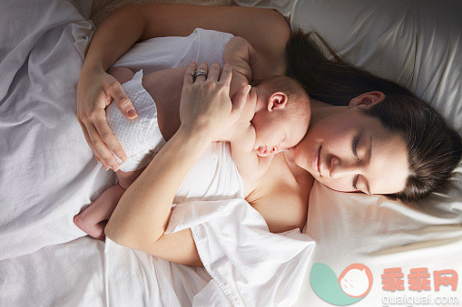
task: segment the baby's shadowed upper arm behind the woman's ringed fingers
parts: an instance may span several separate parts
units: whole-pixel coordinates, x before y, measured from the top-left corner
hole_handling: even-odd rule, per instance
[[[230,96],[247,85],[252,79],[260,78],[260,67],[251,43],[239,36],[231,38],[224,48],[223,61],[232,66]]]

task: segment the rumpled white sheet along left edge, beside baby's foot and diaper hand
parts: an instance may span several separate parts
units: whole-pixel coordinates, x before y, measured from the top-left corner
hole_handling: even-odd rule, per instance
[[[85,145],[75,89],[92,24],[70,1],[0,11],[0,259],[84,235],[72,218],[111,185]]]

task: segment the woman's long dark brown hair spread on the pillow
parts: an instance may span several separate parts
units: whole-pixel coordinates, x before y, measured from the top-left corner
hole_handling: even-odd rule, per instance
[[[331,60],[313,35],[329,51]],[[417,200],[446,184],[462,156],[462,139],[428,103],[396,82],[343,61],[313,32],[303,34],[298,30],[291,34],[286,65],[286,74],[298,80],[311,98],[332,105],[348,105],[351,99],[369,91],[385,94],[384,101],[364,112],[405,139],[410,171],[405,189],[389,197]]]

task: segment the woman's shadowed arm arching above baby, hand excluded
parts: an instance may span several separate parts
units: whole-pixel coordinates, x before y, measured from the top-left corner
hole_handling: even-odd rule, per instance
[[[271,62],[273,68],[284,62],[290,27],[277,12],[240,6],[148,4],[123,6],[110,14],[93,36],[85,66],[107,70],[138,41],[187,36],[198,27],[243,37],[265,61],[276,60]]]

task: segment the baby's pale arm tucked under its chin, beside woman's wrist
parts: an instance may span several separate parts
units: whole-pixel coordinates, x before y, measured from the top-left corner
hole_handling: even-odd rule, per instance
[[[255,144],[255,129],[249,122],[242,125],[239,132],[231,139],[231,156],[244,182],[254,182],[263,176],[270,167],[274,154],[260,157],[253,150]]]

